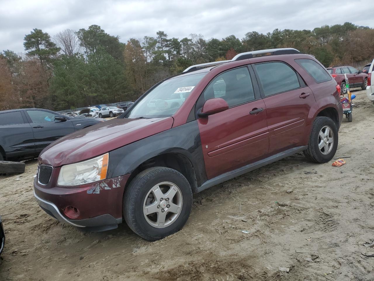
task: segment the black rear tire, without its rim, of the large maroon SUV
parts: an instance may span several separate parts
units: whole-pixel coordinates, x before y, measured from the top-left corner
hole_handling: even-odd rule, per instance
[[[324,126],[329,126],[331,128],[334,139],[332,149],[328,154],[323,154],[318,147],[319,132]],[[304,155],[309,161],[315,163],[326,163],[334,157],[336,149],[338,148],[338,140],[338,129],[334,121],[328,117],[316,117],[313,121],[312,132],[309,136],[308,148],[304,150]]]

